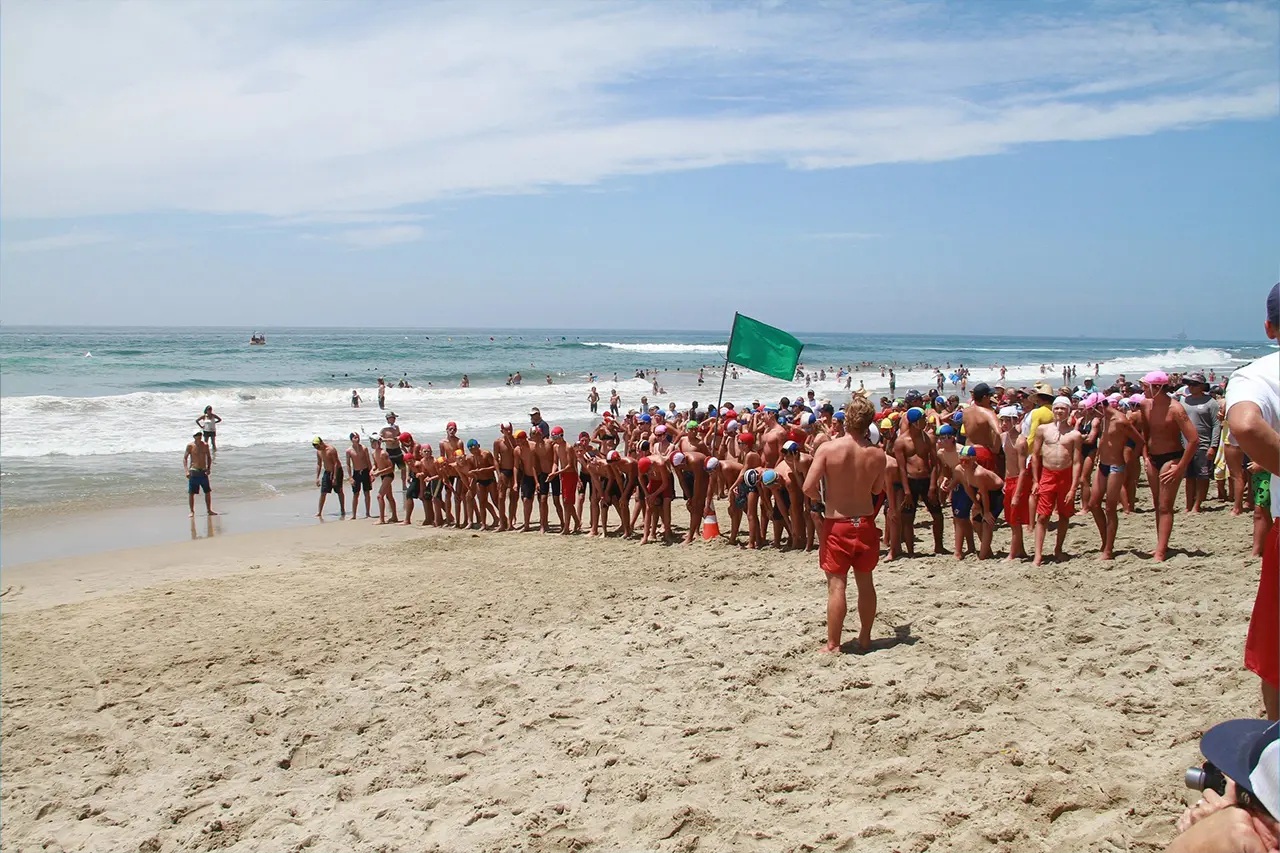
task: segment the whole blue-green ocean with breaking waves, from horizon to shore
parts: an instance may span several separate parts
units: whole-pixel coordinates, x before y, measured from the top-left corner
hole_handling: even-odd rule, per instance
[[[83,506],[184,505],[182,453],[205,406],[224,419],[214,466],[218,497],[264,497],[314,484],[310,441],[340,447],[351,432],[376,432],[376,379],[404,377],[389,388],[388,410],[417,441],[438,443],[449,420],[463,438],[492,439],[498,424],[547,420],[576,430],[593,421],[586,394],[602,409],[617,388],[623,410],[641,396],[666,407],[716,402],[726,332],[617,332],[518,329],[266,329],[266,346],[250,346],[250,329],[0,329],[0,501],[6,516]],[[1267,351],[1229,341],[1100,341],[1087,338],[978,338],[890,334],[799,334],[818,398],[849,397],[852,387],[887,391],[881,366],[897,368],[897,392],[932,386],[932,366],[965,365],[973,382],[998,378],[1055,382],[1062,365],[1101,362],[1119,373],[1199,368],[1225,373]],[[869,366],[863,366],[869,365]],[[1042,373],[1044,365],[1044,373]],[[704,386],[698,369],[705,366]],[[637,369],[658,371],[666,393],[652,394]],[[506,384],[521,371],[520,387]],[[460,388],[462,374],[470,388]],[[614,375],[617,380],[614,382]],[[550,377],[550,384],[547,378]],[[795,396],[804,380],[780,382],[744,371],[724,398]],[[357,389],[365,402],[351,407]]]

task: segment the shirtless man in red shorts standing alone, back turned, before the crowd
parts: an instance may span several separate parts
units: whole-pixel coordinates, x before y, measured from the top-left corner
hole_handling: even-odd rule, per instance
[[[814,453],[804,493],[822,508],[818,565],[827,575],[827,644],[840,651],[840,634],[849,608],[846,585],[854,570],[858,585],[858,648],[870,649],[876,621],[876,585],[872,570],[879,561],[881,530],[874,516],[884,497],[884,452],[867,439],[876,411],[865,397],[854,397],[845,410],[849,434],[826,442]],[[858,435],[859,438],[854,438]],[[826,501],[823,501],[826,498]]]

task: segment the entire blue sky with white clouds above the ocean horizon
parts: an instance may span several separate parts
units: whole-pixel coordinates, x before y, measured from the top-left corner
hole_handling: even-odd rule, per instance
[[[17,1],[6,324],[1256,338],[1268,3]]]

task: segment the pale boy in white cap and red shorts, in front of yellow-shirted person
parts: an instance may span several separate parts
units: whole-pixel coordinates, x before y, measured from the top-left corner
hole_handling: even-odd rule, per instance
[[[1048,519],[1057,510],[1057,544],[1053,558],[1062,558],[1066,530],[1075,514],[1075,489],[1079,487],[1084,443],[1080,433],[1071,429],[1071,401],[1057,397],[1053,401],[1053,423],[1039,425],[1032,439],[1032,479],[1036,483],[1036,560],[1041,565],[1044,555],[1044,534]]]

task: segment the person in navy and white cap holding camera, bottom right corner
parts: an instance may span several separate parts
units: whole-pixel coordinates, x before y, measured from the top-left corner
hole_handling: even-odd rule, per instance
[[[1201,738],[1202,768],[1187,785],[1204,797],[1178,818],[1166,853],[1274,853],[1280,849],[1280,724],[1228,720]]]

